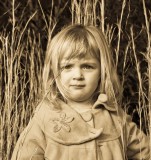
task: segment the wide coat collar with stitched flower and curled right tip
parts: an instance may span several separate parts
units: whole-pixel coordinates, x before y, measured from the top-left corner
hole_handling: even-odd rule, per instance
[[[93,113],[89,114],[79,114],[63,101],[59,101],[59,105],[60,109],[54,110],[55,107],[44,100],[38,107],[36,119],[42,120],[41,128],[47,138],[65,145],[80,144],[100,137],[103,128],[99,125],[93,128],[87,122],[92,119],[95,112],[100,111],[99,108],[105,107],[107,110],[116,111],[106,102],[102,102],[101,98],[94,104]]]

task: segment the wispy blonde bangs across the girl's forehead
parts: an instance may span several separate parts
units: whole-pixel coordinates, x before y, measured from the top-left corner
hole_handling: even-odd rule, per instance
[[[73,34],[68,36],[61,46],[59,61],[65,58],[70,60],[73,58],[84,58],[87,54],[95,58],[100,58],[99,48],[94,37],[86,32]]]

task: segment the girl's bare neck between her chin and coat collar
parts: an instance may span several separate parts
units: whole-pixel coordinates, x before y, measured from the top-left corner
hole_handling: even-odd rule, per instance
[[[90,100],[82,102],[68,100],[67,104],[79,113],[89,111],[93,106],[93,102]]]

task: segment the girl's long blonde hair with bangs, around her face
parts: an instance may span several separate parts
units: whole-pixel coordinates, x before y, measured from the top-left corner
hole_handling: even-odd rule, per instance
[[[112,59],[110,47],[100,29],[94,26],[70,25],[48,42],[44,70],[43,89],[49,99],[64,99],[56,81],[59,76],[59,62],[64,54],[68,58],[84,57],[90,53],[100,61],[101,80],[99,93],[106,94],[109,100],[119,101],[121,86]]]

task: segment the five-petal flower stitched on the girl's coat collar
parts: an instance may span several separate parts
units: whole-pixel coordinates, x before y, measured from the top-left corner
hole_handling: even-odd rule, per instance
[[[52,119],[51,121],[54,123],[54,132],[60,131],[62,128],[70,132],[71,127],[69,126],[69,123],[71,123],[74,120],[74,117],[67,117],[66,113],[60,113],[59,118]]]

